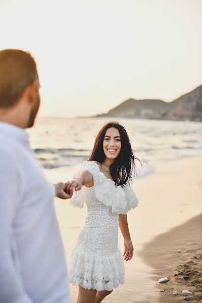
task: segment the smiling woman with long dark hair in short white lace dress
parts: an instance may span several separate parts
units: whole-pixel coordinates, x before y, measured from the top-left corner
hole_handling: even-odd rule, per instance
[[[67,189],[76,190],[71,204],[82,208],[85,201],[88,209],[69,264],[70,282],[79,285],[78,303],[99,303],[124,283],[123,257],[125,261],[133,257],[126,214],[138,205],[129,185],[135,159],[125,128],[107,123],[95,139],[89,161],[66,183]],[[124,237],[123,256],[118,226]]]

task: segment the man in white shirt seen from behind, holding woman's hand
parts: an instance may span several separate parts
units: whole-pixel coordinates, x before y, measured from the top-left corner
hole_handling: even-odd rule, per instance
[[[40,105],[31,55],[0,51],[0,302],[69,303],[69,283],[54,196],[72,196],[49,184],[29,146]]]

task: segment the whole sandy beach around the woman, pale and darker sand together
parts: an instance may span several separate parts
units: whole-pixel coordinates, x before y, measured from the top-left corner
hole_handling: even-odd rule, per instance
[[[202,247],[201,217],[198,216],[202,212],[201,163],[202,158],[159,163],[154,174],[135,180],[133,186],[139,206],[128,214],[135,255],[130,262],[125,262],[125,284],[115,289],[104,301],[174,303],[183,300],[185,295],[180,294],[183,289],[194,291],[193,296],[197,296],[195,300],[199,300],[201,292],[196,293],[196,290],[201,286],[196,280],[200,281],[200,276],[195,275],[199,271]],[[49,180],[58,181],[59,176],[60,181],[67,180],[65,170],[53,170]],[[68,261],[84,223],[86,208],[74,209],[68,201],[57,198],[55,205]],[[123,251],[121,233],[119,248]],[[181,252],[177,252],[178,249]],[[193,264],[188,263],[190,261]],[[186,270],[194,273],[185,273]],[[180,277],[185,274],[191,275],[191,278],[181,283]],[[163,276],[168,276],[170,281],[159,284],[158,279]],[[188,285],[189,282],[192,284]],[[165,292],[160,293],[160,288]],[[74,303],[77,287],[71,286],[70,290]],[[174,291],[178,295],[173,295]]]

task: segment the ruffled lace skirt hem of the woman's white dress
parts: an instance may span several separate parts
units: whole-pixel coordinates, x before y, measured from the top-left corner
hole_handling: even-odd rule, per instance
[[[125,281],[123,256],[93,256],[74,249],[69,263],[69,281],[85,289],[113,290]]]

